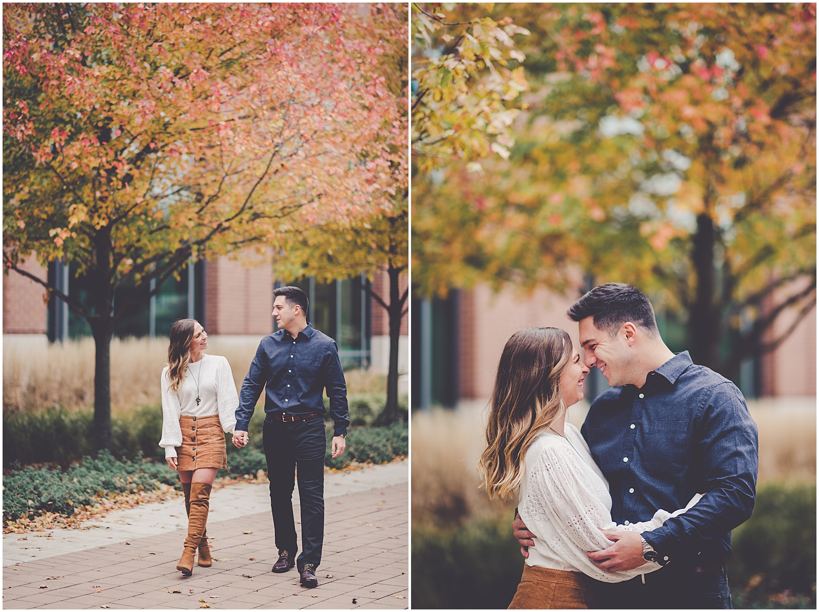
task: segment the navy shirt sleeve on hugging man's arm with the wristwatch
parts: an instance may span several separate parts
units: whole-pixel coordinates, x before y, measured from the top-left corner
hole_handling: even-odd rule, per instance
[[[685,514],[643,533],[646,542],[673,560],[696,557],[704,547],[748,520],[758,472],[758,431],[730,382],[715,385],[695,421],[703,461],[705,496]],[[731,551],[724,551],[730,556]]]

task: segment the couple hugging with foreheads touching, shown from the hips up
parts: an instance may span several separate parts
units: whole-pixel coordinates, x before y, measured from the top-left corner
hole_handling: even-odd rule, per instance
[[[554,327],[506,343],[478,464],[491,497],[519,492],[509,608],[731,609],[725,560],[758,469],[740,390],[672,353],[634,287],[595,287],[568,316],[583,359]],[[577,430],[566,410],[595,366],[612,389]]]

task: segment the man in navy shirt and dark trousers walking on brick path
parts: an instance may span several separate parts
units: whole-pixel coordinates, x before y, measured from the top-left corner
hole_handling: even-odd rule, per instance
[[[307,295],[298,287],[274,291],[273,316],[278,331],[266,335],[245,376],[236,409],[233,443],[247,445],[250,423],[261,390],[265,389],[262,443],[270,480],[270,509],[276,533],[276,573],[296,564],[293,483],[298,479],[301,504],[301,584],[317,587],[315,570],[324,544],[324,402],[327,389],[333,430],[332,455],[346,448],[347,390],[338,347],[332,338],[307,322]],[[296,470],[298,466],[298,470]],[[295,472],[295,475],[294,475]]]

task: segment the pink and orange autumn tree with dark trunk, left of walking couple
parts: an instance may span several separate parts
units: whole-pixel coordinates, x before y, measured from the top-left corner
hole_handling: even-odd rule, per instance
[[[91,326],[95,448],[129,308],[294,215],[339,221],[382,197],[365,103],[382,83],[345,23],[326,4],[4,7],[3,263]],[[77,263],[88,300],[21,270],[32,251]]]

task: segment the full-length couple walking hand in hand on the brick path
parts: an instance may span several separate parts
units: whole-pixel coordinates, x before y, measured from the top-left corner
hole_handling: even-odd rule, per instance
[[[219,469],[226,468],[224,433],[233,444],[248,443],[248,424],[265,389],[262,443],[270,480],[278,560],[272,571],[294,565],[305,587],[316,587],[315,570],[324,543],[324,402],[327,390],[335,424],[332,453],[346,448],[346,383],[338,347],[332,338],[307,322],[308,300],[298,287],[274,291],[273,316],[278,331],[265,336],[250,370],[236,393],[228,360],[206,355],[207,334],[199,322],[183,319],[170,330],[168,367],[162,371],[162,439],[165,459],[179,472],[188,511],[188,537],[176,569],[185,575],[197,564],[210,567],[206,522],[210,490]],[[223,433],[224,432],[224,433]],[[297,470],[296,470],[297,466]],[[292,493],[299,485],[301,555],[296,559],[296,525]]]

